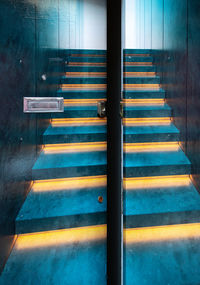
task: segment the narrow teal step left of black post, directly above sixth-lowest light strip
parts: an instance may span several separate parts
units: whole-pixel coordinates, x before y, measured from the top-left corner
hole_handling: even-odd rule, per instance
[[[61,84],[106,84],[105,77],[67,77],[61,78]]]

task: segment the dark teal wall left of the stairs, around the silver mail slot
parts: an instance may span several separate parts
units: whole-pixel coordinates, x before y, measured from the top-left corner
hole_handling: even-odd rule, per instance
[[[57,88],[50,74],[55,69],[51,59],[58,53],[58,0],[1,0],[0,19],[1,269],[49,123],[49,115],[24,114],[23,97],[52,95]],[[41,80],[44,73],[47,82]]]

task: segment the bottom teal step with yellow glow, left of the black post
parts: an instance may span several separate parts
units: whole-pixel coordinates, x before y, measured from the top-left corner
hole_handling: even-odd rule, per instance
[[[34,243],[28,237],[28,244],[19,237],[0,276],[0,284],[106,284],[106,239],[97,236],[79,241],[74,232],[77,238],[73,232],[70,235],[64,231],[57,232],[55,239],[53,234],[34,236]],[[94,229],[94,237],[95,234]],[[80,231],[80,235],[86,236],[87,229]]]

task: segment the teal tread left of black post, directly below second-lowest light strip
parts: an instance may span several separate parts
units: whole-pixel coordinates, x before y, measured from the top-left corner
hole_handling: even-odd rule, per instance
[[[98,202],[103,196],[103,203]],[[80,203],[81,201],[81,203]],[[47,192],[30,191],[23,204],[18,221],[47,219],[106,211],[106,188],[62,189]]]

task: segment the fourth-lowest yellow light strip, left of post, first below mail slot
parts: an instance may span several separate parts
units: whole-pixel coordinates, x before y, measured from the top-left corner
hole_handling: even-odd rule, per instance
[[[106,118],[65,118],[52,119],[52,127],[71,127],[71,126],[102,126],[106,125]]]

